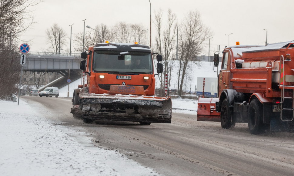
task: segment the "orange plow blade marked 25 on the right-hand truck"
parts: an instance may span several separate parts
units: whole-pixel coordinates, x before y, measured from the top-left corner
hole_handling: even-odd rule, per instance
[[[220,113],[215,110],[218,98],[199,98],[197,108],[197,121],[220,122]]]

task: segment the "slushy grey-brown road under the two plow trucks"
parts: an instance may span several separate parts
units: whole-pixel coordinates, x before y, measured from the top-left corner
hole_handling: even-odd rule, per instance
[[[172,124],[83,124],[69,113],[71,99],[22,97],[81,145],[117,150],[161,175],[293,175],[294,134],[251,135],[247,124],[224,130],[219,122],[173,113]],[[91,137],[92,143],[85,143]]]

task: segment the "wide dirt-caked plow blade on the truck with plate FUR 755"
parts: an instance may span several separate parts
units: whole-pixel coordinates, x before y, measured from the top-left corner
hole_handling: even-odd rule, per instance
[[[81,93],[79,102],[79,106],[72,108],[74,116],[82,114],[83,118],[92,120],[171,123],[172,101],[169,96]]]

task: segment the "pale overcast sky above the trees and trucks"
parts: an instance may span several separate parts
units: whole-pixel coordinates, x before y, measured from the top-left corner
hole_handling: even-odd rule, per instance
[[[204,25],[213,32],[210,40],[210,55],[217,49],[235,45],[264,45],[268,30],[268,43],[294,40],[292,12],[294,0],[150,0],[152,20],[154,11],[162,9],[164,17],[171,9],[181,22],[185,14],[198,10]],[[148,0],[44,0],[35,6],[34,22],[20,38],[30,45],[30,51],[42,51],[46,44],[46,29],[54,23],[60,25],[68,37],[69,50],[70,26],[72,36],[83,32],[85,26],[94,28],[100,23],[112,26],[117,22],[138,23],[149,29],[150,4]],[[166,20],[166,18],[165,18]],[[92,30],[85,27],[85,32]],[[149,36],[149,30],[146,36]],[[233,34],[231,34],[233,33]],[[152,23],[152,38],[155,25]],[[231,34],[229,37],[225,34]],[[228,40],[229,39],[229,40]],[[153,40],[154,41],[154,40]],[[19,44],[21,44],[20,42]],[[208,41],[205,42],[208,46]],[[72,46],[73,51],[73,46]],[[208,47],[203,50],[208,55]]]

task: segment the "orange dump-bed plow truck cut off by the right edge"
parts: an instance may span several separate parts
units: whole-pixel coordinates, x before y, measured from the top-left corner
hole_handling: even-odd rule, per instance
[[[214,56],[219,67],[219,55]],[[218,99],[199,98],[197,120],[228,129],[248,123],[251,134],[294,129],[294,41],[231,46],[223,51]]]

